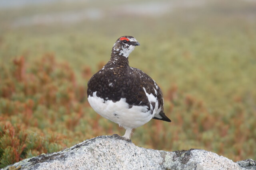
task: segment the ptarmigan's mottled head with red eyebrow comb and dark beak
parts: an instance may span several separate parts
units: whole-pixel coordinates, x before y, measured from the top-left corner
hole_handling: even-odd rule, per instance
[[[140,43],[138,43],[134,37],[122,36],[116,40],[116,43],[114,43],[112,53],[127,58],[137,45],[140,45]]]

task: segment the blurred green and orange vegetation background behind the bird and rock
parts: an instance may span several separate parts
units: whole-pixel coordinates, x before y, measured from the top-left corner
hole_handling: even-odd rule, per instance
[[[86,95],[123,35],[172,120],[135,129],[135,145],[256,159],[255,0],[1,0],[0,168],[124,134]]]

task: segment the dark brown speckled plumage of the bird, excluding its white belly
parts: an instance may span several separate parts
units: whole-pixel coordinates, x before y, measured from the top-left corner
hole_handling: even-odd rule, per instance
[[[131,41],[127,43],[119,43],[118,40],[112,48],[112,54],[110,61],[99,70],[88,82],[87,94],[93,96],[96,92],[96,96],[107,100],[112,100],[112,102],[118,102],[121,98],[126,99],[129,108],[133,106],[148,106],[148,110],[154,110],[156,106],[155,103],[150,103],[147,94],[152,94],[157,98],[157,106],[160,108],[159,115],[153,117],[153,119],[160,119],[170,122],[170,119],[164,114],[164,102],[162,97],[162,91],[156,84],[156,82],[150,78],[146,73],[138,68],[133,68],[129,66],[128,55],[124,54],[128,47],[134,47],[132,44],[137,42],[131,36],[124,36],[129,38]],[[133,50],[131,49],[131,51]],[[130,50],[130,49],[129,49]],[[121,53],[120,51],[124,51]],[[146,93],[145,93],[145,90]],[[152,114],[151,112],[151,114]]]

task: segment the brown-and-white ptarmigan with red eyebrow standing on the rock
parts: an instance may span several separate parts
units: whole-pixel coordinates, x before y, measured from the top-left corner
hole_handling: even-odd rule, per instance
[[[102,117],[126,129],[128,142],[132,129],[158,119],[171,120],[164,113],[160,87],[142,70],[129,66],[128,56],[140,43],[132,36],[122,36],[112,47],[111,57],[88,81],[87,97],[90,106]]]

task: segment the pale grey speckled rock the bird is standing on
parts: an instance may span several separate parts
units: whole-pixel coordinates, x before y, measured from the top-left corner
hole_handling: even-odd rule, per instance
[[[88,139],[60,152],[41,154],[7,166],[4,170],[171,169],[256,170],[254,160],[238,161],[200,149],[163,150],[137,147],[112,136]]]

